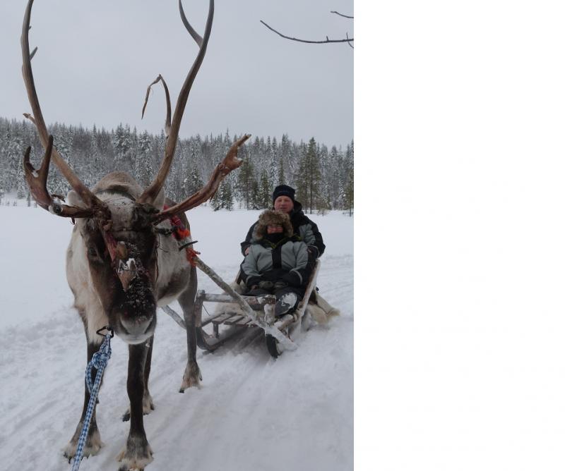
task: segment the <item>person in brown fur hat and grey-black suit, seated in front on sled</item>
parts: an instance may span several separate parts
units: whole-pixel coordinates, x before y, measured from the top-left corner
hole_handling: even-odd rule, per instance
[[[308,246],[293,233],[288,214],[270,209],[261,213],[241,267],[246,294],[274,294],[277,317],[295,309],[311,273]]]

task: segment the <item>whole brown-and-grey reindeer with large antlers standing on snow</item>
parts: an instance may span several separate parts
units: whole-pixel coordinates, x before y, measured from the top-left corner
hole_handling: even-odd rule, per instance
[[[184,212],[212,197],[222,179],[242,164],[237,158],[237,149],[249,135],[234,142],[225,159],[216,166],[210,181],[201,190],[179,204],[165,199],[163,185],[172,164],[186,101],[206,54],[214,13],[214,2],[210,0],[205,32],[201,37],[186,19],[179,0],[182,21],[200,49],[179,92],[172,121],[165,80],[160,75],[155,80],[162,81],[167,100],[167,143],[157,176],[148,188],[143,189],[129,174],[112,172],[90,190],[61,158],[53,145],[53,137],[45,126],[31,68],[31,59],[35,54],[35,50],[30,54],[28,39],[32,4],[33,0],[29,0],[21,36],[23,78],[32,108],[32,116],[25,116],[35,123],[45,153],[40,168],[36,170],[30,164],[28,147],[23,164],[25,179],[33,198],[42,208],[57,216],[72,218],[73,221],[76,219],[66,252],[66,277],[74,295],[74,307],[83,321],[87,360],[90,361],[99,348],[102,337],[97,335],[97,331],[105,326],[110,326],[117,336],[129,344],[127,392],[130,405],[124,420],[130,420],[130,429],[126,446],[117,459],[122,463],[120,470],[143,470],[153,461],[153,451],[143,427],[143,414],[153,410],[148,379],[157,306],[177,299],[184,313],[188,362],[181,392],[198,385],[202,379],[196,362],[193,311],[197,287],[196,269],[189,263],[184,250],[179,251],[177,240],[171,236],[174,227],[170,218],[178,215],[185,228],[190,230]],[[66,202],[56,199],[47,190],[51,159],[71,185],[72,190]],[[165,204],[168,209],[165,209]],[[185,236],[188,236],[190,243],[189,232],[185,231]],[[76,450],[89,399],[90,394],[85,387],[81,420],[64,450],[69,461]],[[95,455],[101,446],[94,414],[88,429],[85,456]]]

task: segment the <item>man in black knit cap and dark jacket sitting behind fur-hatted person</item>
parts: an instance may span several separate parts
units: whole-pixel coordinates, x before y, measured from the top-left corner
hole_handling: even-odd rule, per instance
[[[294,235],[303,240],[308,247],[309,266],[313,267],[316,259],[326,250],[326,245],[323,243],[318,226],[302,212],[302,204],[295,200],[295,189],[288,185],[278,185],[273,191],[273,209],[288,214]],[[254,241],[256,225],[257,223],[249,228],[245,240],[241,243],[243,255],[247,255],[249,245]]]

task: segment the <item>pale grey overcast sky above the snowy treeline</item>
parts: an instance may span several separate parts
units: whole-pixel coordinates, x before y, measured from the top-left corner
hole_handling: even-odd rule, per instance
[[[21,78],[20,32],[25,0],[0,2],[0,116],[30,111]],[[185,0],[202,35],[208,1]],[[194,82],[181,137],[251,133],[347,145],[353,138],[353,49],[302,44],[303,39],[354,36],[352,0],[217,1],[208,52]],[[179,18],[177,1],[36,0],[30,47],[47,123],[114,128],[129,123],[160,133],[162,87],[154,87],[141,121],[146,87],[160,73],[173,102],[197,54]],[[173,103],[174,107],[174,103]]]

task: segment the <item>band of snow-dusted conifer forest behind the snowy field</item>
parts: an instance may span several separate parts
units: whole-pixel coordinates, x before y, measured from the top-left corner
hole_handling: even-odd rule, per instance
[[[131,173],[143,186],[155,176],[165,152],[165,133],[138,133],[119,124],[114,130],[85,129],[55,123],[49,128],[54,145],[71,168],[89,187],[110,171]],[[238,136],[196,135],[179,139],[177,152],[166,183],[167,196],[184,200],[201,188]],[[23,154],[32,146],[31,161],[37,168],[44,151],[35,127],[28,121],[0,118],[0,202],[4,195],[18,198],[30,195],[23,177]],[[213,209],[263,209],[271,206],[276,185],[296,188],[296,199],[304,212],[323,214],[338,209],[353,210],[353,141],[346,149],[316,142],[292,142],[286,134],[256,137],[239,149],[244,164],[230,173],[210,201]],[[47,188],[54,195],[66,195],[69,184],[56,166],[51,166]]]

